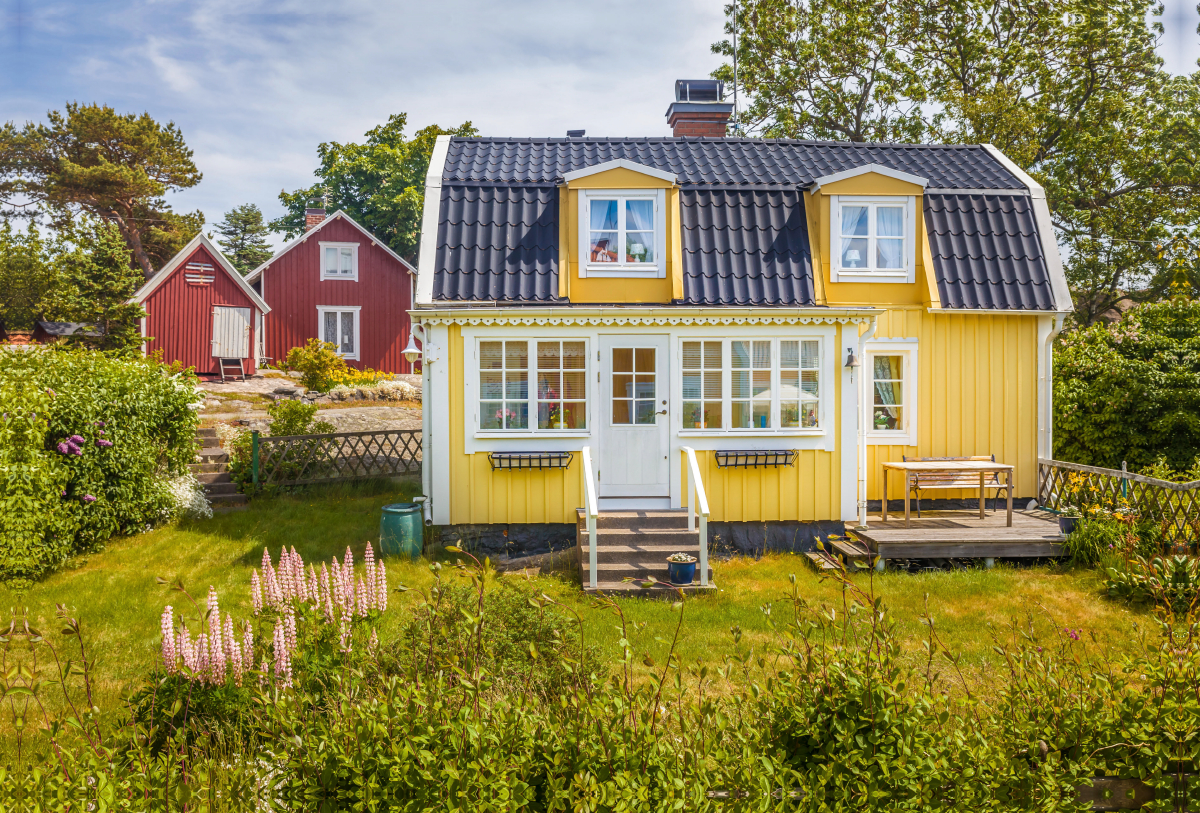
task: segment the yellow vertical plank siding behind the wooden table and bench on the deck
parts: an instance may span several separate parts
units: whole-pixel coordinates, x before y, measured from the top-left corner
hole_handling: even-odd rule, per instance
[[[1028,315],[931,314],[892,309],[877,339],[918,339],[917,446],[868,446],[868,499],[881,498],[880,464],[910,457],[995,454],[1016,466],[1014,492],[1037,492],[1037,335]],[[865,369],[865,368],[864,368]],[[888,496],[900,499],[899,476]],[[978,492],[937,492],[970,498]]]

